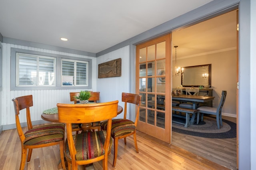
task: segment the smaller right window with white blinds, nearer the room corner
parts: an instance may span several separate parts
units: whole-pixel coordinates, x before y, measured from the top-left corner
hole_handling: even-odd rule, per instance
[[[88,62],[62,59],[62,86],[88,86]]]

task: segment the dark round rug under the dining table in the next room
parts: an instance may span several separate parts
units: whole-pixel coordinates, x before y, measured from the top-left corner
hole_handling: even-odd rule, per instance
[[[184,121],[184,119],[173,117],[176,121]],[[216,118],[211,116],[204,116],[203,121],[199,121],[198,125],[190,125],[187,128],[182,124],[172,122],[172,131],[206,138],[235,138],[236,137],[236,123],[222,119],[223,126],[220,129],[217,127]]]

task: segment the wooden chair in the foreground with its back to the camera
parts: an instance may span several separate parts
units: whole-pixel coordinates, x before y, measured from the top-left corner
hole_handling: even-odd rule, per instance
[[[67,139],[64,152],[68,169],[77,170],[78,165],[91,164],[102,160],[103,170],[108,169],[108,154],[112,139],[111,126],[106,131],[72,134],[72,123],[90,123],[107,120],[111,125],[117,115],[118,100],[97,104],[57,104],[58,118],[66,123]]]

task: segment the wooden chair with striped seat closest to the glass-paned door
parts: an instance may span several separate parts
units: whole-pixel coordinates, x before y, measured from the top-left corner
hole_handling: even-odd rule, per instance
[[[118,149],[118,140],[124,138],[124,144],[126,144],[126,137],[133,135],[134,145],[136,152],[138,153],[138,146],[136,140],[136,126],[140,113],[140,102],[141,95],[131,94],[131,93],[122,93],[122,102],[124,102],[124,119],[113,119],[112,120],[112,129],[111,129],[111,137],[114,139],[114,161],[113,167],[116,166],[116,158],[117,158],[117,149]],[[136,105],[136,118],[135,121],[131,121],[126,119],[127,114],[127,103]],[[106,130],[109,127],[107,121],[101,123],[102,130]]]

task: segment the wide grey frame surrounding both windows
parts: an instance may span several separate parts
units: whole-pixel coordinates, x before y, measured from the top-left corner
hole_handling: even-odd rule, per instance
[[[56,58],[56,84],[55,86],[16,86],[16,73],[17,73],[17,59],[16,53],[24,53],[28,55],[40,55],[45,57]],[[10,90],[61,90],[61,89],[91,89],[92,88],[92,59],[72,57],[67,55],[59,55],[52,53],[45,53],[40,51],[32,51],[27,49],[11,48],[11,76],[10,79]],[[62,70],[61,70],[61,59],[70,59],[73,61],[86,61],[88,62],[88,86],[62,86]]]

